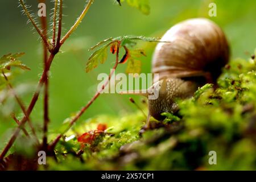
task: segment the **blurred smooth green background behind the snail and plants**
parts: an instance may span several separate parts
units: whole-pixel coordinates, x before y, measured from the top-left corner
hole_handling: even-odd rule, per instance
[[[85,5],[85,0],[64,1],[64,30],[67,32]],[[208,16],[209,3],[217,5],[217,17]],[[1,0],[0,6],[0,55],[12,52],[26,52],[22,57],[31,71],[24,72],[14,80],[14,85],[22,83],[36,84],[42,73],[42,43],[32,25],[27,24],[26,16],[21,14],[18,1]],[[37,14],[38,1],[27,0],[32,5],[31,10]],[[150,0],[151,13],[144,15],[137,9],[123,3],[120,7],[114,0],[96,0],[81,25],[65,42],[53,61],[50,83],[50,129],[57,129],[65,118],[78,111],[94,95],[97,88],[98,73],[109,73],[114,63],[114,57],[109,56],[104,65],[90,73],[85,73],[85,64],[90,56],[88,48],[97,42],[121,35],[162,36],[175,23],[196,17],[206,17],[218,23],[225,31],[230,47],[232,59],[242,57],[247,59],[256,48],[256,2],[254,0]],[[51,13],[53,3],[47,1],[47,15]],[[38,20],[39,21],[39,20]],[[49,22],[50,24],[50,22]],[[147,57],[142,59],[142,72],[149,73],[151,56],[155,43],[139,43],[145,48]],[[126,65],[120,65],[117,72],[125,72]],[[87,119],[99,114],[123,114],[136,109],[129,100],[129,96],[118,94],[104,94],[86,111],[81,119]],[[24,94],[22,99],[29,104],[31,93]],[[139,97],[135,100],[140,101]],[[38,125],[43,123],[42,97],[40,97],[31,115]],[[19,111],[20,112],[20,111]],[[20,116],[22,114],[20,113]],[[80,119],[80,120],[81,120]],[[107,122],[107,121],[102,121]],[[9,138],[9,130],[15,123],[5,119],[0,121],[0,147]]]

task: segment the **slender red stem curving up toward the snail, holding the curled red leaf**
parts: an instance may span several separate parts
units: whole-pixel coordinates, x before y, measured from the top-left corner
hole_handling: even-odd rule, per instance
[[[114,67],[112,68],[112,71],[110,72],[109,74],[109,78],[108,80],[106,80],[106,82],[104,83],[104,85],[102,85],[101,87],[101,90],[98,90],[93,98],[88,102],[88,104],[86,104],[84,107],[82,107],[82,109],[79,111],[79,113],[76,114],[75,117],[72,118],[71,122],[69,123],[69,126],[68,128],[64,131],[67,132],[69,129],[71,129],[71,127],[74,125],[74,123],[77,121],[77,119],[79,119],[81,117],[81,115],[86,111],[86,109],[88,109],[88,107],[90,105],[93,104],[93,102],[98,98],[98,96],[100,96],[101,92],[105,89],[105,87],[109,84],[109,81],[115,71],[115,69],[117,69],[117,65],[118,65],[118,62],[119,62],[119,48],[120,48],[120,43],[118,41],[118,45],[117,45],[117,53],[116,53],[116,57],[115,57],[115,64],[114,64]],[[57,142],[59,142],[60,138],[63,136],[64,133],[61,133],[59,135],[57,135],[56,139],[53,140],[52,144],[51,144],[51,147],[49,148],[50,150],[53,150],[57,144]]]

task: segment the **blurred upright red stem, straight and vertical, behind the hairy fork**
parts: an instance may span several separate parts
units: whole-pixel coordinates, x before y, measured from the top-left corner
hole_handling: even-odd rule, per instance
[[[45,3],[46,0],[39,0],[40,3]],[[47,39],[47,19],[46,16],[41,16],[41,24],[43,29],[43,35]],[[47,67],[48,49],[47,45],[43,42],[43,63],[44,69]],[[43,148],[47,147],[47,131],[49,123],[49,77],[47,72],[47,79],[44,83],[44,124],[43,124]]]

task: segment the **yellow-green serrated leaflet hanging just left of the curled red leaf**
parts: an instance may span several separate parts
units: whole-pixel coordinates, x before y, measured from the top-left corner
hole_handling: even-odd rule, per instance
[[[90,56],[87,64],[86,64],[86,73],[92,71],[94,68],[97,68],[98,63],[104,64],[108,57],[108,45],[98,49],[95,51],[92,56]]]

